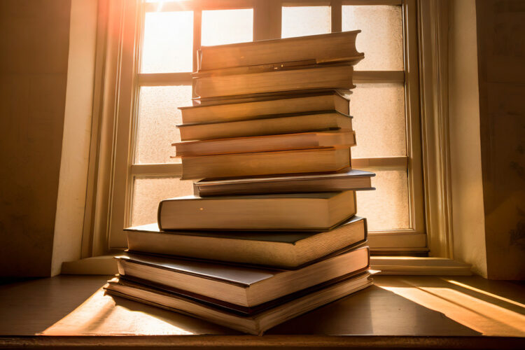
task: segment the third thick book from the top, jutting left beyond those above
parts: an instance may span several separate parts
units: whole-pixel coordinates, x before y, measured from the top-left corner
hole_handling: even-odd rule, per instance
[[[183,124],[231,122],[287,113],[338,111],[347,116],[350,114],[349,100],[335,91],[179,109]]]

